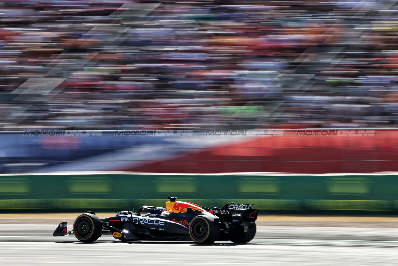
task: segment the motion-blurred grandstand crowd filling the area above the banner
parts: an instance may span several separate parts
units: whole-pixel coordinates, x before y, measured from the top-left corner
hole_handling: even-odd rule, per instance
[[[2,0],[0,130],[396,127],[397,7]]]

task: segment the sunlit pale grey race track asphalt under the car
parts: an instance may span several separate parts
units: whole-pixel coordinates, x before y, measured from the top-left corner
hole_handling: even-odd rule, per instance
[[[339,265],[398,262],[396,227],[258,226],[247,244],[52,237],[57,224],[0,224],[1,265]],[[72,225],[68,225],[70,229]]]

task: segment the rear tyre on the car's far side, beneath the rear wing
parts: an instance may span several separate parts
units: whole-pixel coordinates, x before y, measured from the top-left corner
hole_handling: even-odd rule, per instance
[[[257,227],[254,222],[243,221],[240,215],[232,216],[232,230],[229,240],[233,243],[248,243],[256,235]]]

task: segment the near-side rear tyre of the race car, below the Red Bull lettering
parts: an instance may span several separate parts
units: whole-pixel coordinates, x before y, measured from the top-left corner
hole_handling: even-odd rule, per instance
[[[197,244],[211,244],[220,235],[220,225],[215,217],[198,215],[189,224],[189,235]]]

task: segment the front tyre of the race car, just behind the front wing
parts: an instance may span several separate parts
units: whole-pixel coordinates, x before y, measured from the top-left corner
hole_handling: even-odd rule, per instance
[[[100,218],[91,213],[79,215],[73,223],[73,233],[79,241],[96,241],[102,233]]]

